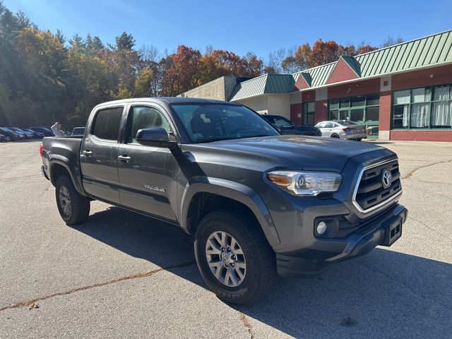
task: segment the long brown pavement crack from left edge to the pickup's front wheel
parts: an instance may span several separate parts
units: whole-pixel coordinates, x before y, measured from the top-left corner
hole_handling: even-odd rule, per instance
[[[93,285],[76,287],[76,288],[73,288],[72,290],[69,290],[69,291],[57,292],[57,293],[54,293],[53,295],[46,295],[44,297],[37,297],[35,299],[31,299],[31,300],[28,300],[26,302],[17,302],[16,304],[12,304],[12,305],[9,305],[9,306],[6,306],[6,307],[1,307],[0,311],[5,311],[6,309],[16,309],[18,307],[30,307],[30,305],[35,304],[36,302],[40,302],[42,300],[49,299],[49,298],[52,298],[52,297],[59,297],[61,295],[71,295],[71,294],[73,294],[75,292],[90,290],[92,288],[102,287],[102,286],[106,286],[106,285],[112,285],[114,283],[119,283],[121,281],[132,280],[132,279],[136,279],[136,278],[150,277],[150,275],[154,275],[155,273],[159,273],[162,270],[171,270],[171,269],[174,269],[174,268],[184,268],[184,267],[191,266],[191,265],[194,265],[194,261],[190,261],[188,263],[181,263],[179,265],[174,265],[174,266],[156,268],[155,270],[148,270],[148,272],[135,273],[135,274],[132,274],[132,275],[125,275],[124,277],[114,278],[112,280],[105,281],[104,283],[96,283],[96,284],[93,284]]]

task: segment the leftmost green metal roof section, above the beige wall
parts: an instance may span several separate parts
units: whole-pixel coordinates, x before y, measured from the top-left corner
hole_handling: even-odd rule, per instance
[[[235,85],[230,101],[254,97],[268,93],[290,93],[295,86],[295,80],[290,74],[264,74]]]

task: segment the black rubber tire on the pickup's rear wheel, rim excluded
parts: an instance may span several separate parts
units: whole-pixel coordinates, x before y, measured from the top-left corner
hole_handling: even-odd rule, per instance
[[[66,191],[64,191],[65,189]],[[66,196],[69,196],[70,212],[67,209],[65,212],[64,203],[61,202],[60,198],[61,191],[67,192]],[[80,224],[90,215],[90,199],[79,194],[73,186],[72,180],[66,175],[62,175],[57,179],[55,198],[57,200],[59,215],[61,215],[61,218],[67,225]]]

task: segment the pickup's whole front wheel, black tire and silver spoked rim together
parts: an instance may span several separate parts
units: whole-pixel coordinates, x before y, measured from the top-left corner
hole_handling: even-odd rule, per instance
[[[225,302],[256,302],[275,283],[275,252],[246,213],[209,213],[198,225],[194,246],[204,281]]]

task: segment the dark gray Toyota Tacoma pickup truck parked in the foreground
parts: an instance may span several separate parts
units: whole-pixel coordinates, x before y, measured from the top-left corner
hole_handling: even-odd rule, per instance
[[[408,214],[395,153],[282,136],[231,102],[106,102],[84,136],[44,138],[41,155],[67,224],[99,200],[177,225],[194,234],[206,285],[234,304],[266,295],[278,273],[315,276],[391,246]]]

